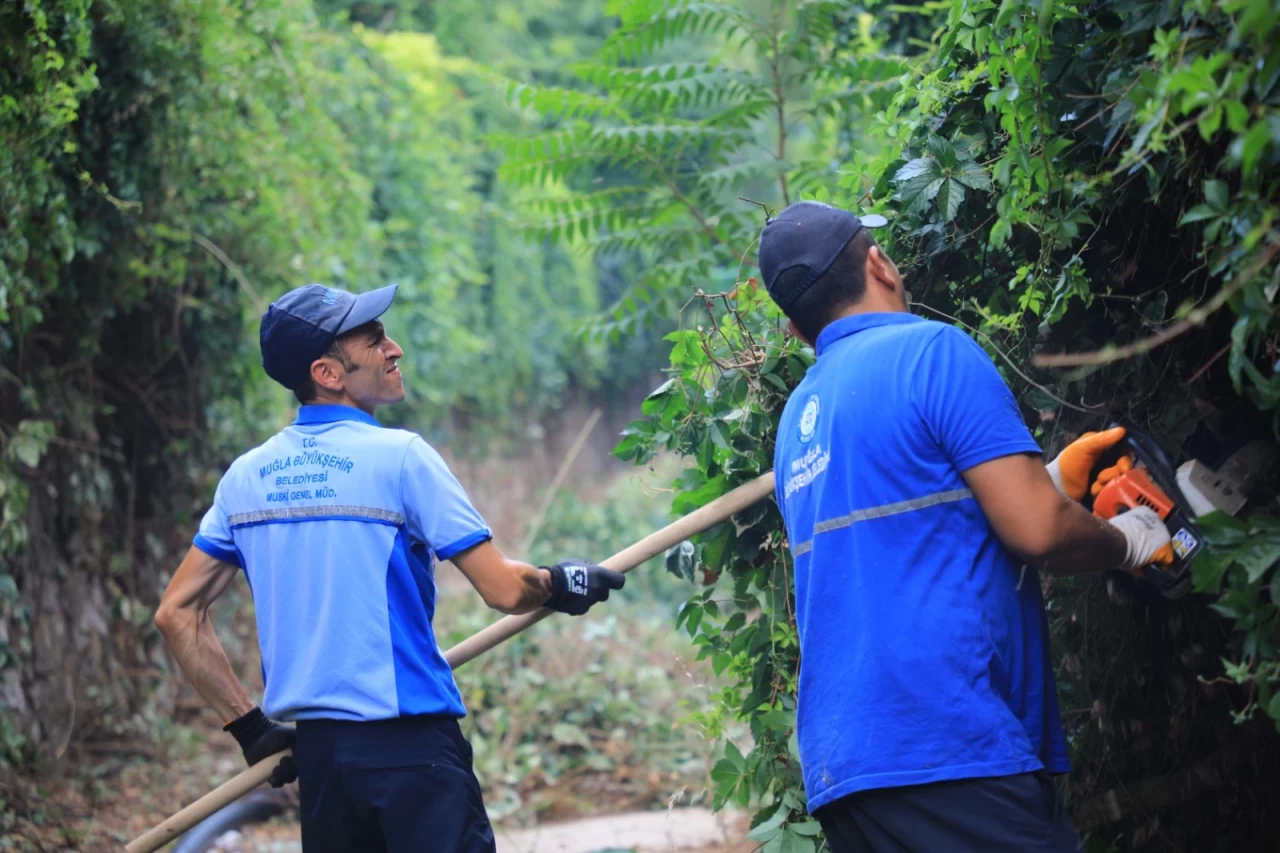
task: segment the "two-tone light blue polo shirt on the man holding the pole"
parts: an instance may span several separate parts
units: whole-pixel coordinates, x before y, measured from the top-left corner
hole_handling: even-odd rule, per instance
[[[195,544],[244,570],[269,717],[385,720],[466,713],[433,566],[489,538],[421,437],[314,405],[232,464]]]

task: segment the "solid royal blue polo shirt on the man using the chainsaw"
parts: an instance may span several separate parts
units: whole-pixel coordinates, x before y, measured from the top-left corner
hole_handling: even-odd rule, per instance
[[[795,557],[809,808],[1068,770],[1039,578],[960,476],[1039,453],[987,353],[910,314],[832,323],[774,457]]]

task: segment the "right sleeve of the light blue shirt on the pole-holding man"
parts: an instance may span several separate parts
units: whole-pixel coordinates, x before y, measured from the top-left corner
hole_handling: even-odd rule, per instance
[[[410,537],[429,546],[440,560],[493,538],[453,471],[419,437],[404,453],[401,500]]]

